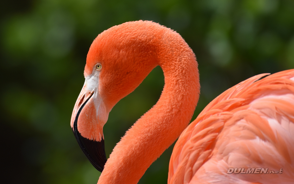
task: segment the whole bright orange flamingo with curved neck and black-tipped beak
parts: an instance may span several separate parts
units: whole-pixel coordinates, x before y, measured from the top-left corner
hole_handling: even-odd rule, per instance
[[[107,160],[103,126],[109,112],[158,65],[165,80],[158,102],[125,133]],[[294,70],[240,82],[189,125],[200,93],[192,49],[171,29],[134,21],[96,37],[84,75],[71,127],[89,161],[103,171],[98,184],[138,183],[177,138],[169,184],[294,182]],[[228,174],[228,168],[282,173]]]

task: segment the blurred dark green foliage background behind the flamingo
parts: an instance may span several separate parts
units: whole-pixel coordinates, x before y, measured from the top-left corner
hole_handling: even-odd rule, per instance
[[[294,68],[293,0],[11,0],[1,2],[0,16],[1,183],[97,182],[100,172],[80,150],[70,117],[88,49],[111,26],[150,20],[183,36],[200,71],[192,120],[233,85]],[[163,85],[156,67],[112,109],[104,126],[107,157]],[[172,147],[139,183],[167,182]]]

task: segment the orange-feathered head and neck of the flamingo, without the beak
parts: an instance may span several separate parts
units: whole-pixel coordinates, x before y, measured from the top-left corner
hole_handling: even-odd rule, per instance
[[[107,52],[104,52],[105,48]],[[112,27],[96,38],[87,56],[85,76],[92,72],[91,62],[97,62],[97,58],[102,61],[114,59],[112,62],[127,63],[128,66],[128,71],[119,76],[127,82],[120,80],[112,88],[104,88],[104,85],[109,77],[116,76],[108,76],[107,70],[99,75],[99,93],[108,112],[156,65],[164,72],[165,85],[160,99],[115,146],[98,181],[101,184],[137,183],[192,118],[200,88],[196,57],[178,33],[154,22],[136,21]],[[102,66],[106,64],[102,63]],[[106,67],[103,69],[111,68]]]

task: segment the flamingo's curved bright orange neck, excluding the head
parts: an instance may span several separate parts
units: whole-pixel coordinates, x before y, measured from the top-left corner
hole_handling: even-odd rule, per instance
[[[196,58],[178,33],[162,28],[160,39],[153,39],[165,80],[160,99],[115,146],[98,183],[138,183],[192,118],[200,88]]]

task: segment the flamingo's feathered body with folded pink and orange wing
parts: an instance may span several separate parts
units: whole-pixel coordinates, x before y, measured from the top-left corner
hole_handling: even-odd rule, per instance
[[[294,70],[266,75],[220,94],[183,131],[171,155],[169,184],[293,183]],[[227,174],[228,168],[283,172]]]

